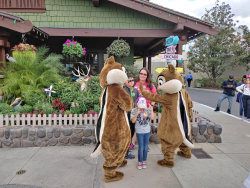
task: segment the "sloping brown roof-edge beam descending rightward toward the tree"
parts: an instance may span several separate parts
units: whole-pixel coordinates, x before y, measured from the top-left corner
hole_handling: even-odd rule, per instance
[[[159,10],[157,8],[153,8],[151,10],[152,7],[150,7],[146,3],[144,4],[144,6],[142,6],[143,1],[142,2],[135,1],[134,3],[132,3],[132,1],[130,0],[129,1],[108,0],[108,1],[119,4],[124,7],[128,7],[133,10],[137,10],[139,12],[143,12],[145,14],[148,14],[148,15],[151,15],[151,16],[154,16],[154,17],[157,17],[157,18],[160,18],[160,19],[172,22],[172,23],[179,23],[179,22],[183,23],[184,27],[186,28],[190,28],[192,30],[206,33],[209,35],[217,35],[220,31],[220,28],[218,26],[216,26],[215,28],[212,28],[212,26],[207,25],[206,23],[204,23],[204,21],[203,23],[197,23],[196,25],[196,21],[189,19],[188,17],[190,16],[188,15],[178,16],[175,14],[171,14],[171,16],[169,16],[170,13],[164,10]]]

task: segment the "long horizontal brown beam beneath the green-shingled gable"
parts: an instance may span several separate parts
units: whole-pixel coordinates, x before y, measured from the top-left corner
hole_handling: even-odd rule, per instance
[[[167,38],[174,35],[170,29],[83,29],[83,28],[39,28],[49,36],[75,37],[154,37]]]

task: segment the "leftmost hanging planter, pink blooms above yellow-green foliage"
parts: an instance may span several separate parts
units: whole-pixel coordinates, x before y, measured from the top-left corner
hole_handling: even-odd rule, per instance
[[[36,59],[36,47],[29,44],[19,44],[12,48],[12,55],[16,63],[32,65]]]

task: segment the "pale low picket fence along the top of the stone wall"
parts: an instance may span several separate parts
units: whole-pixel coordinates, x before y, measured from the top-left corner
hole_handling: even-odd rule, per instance
[[[199,113],[197,111],[192,111],[192,122],[198,122],[199,121]],[[59,115],[31,115],[28,114],[25,115],[11,115],[10,117],[8,115],[0,115],[0,127],[3,126],[63,126],[63,125],[84,125],[84,124],[92,124],[96,125],[98,120],[98,114],[94,115],[82,115],[82,114],[69,114],[69,116],[62,116],[62,114]],[[161,120],[161,114],[157,113],[155,114],[154,120],[150,122],[152,125],[159,125],[159,122]]]

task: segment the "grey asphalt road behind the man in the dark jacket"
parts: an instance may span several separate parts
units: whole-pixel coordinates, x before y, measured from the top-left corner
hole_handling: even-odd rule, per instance
[[[210,106],[212,108],[216,108],[218,99],[220,98],[221,93],[218,92],[211,92],[211,91],[203,91],[203,90],[196,90],[196,89],[188,89],[187,91],[190,95],[190,98],[198,103]],[[228,100],[225,99],[221,103],[221,111],[227,112],[228,109]],[[232,115],[235,115],[237,117],[240,117],[239,115],[239,103],[236,102],[236,96],[233,98],[233,105],[231,109]]]

